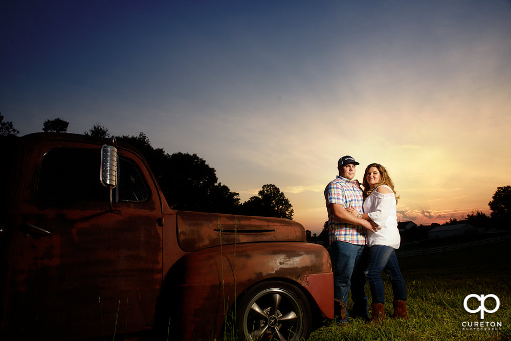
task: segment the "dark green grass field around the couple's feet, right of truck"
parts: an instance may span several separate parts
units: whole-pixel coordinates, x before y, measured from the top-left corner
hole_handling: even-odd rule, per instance
[[[347,325],[326,321],[310,334],[309,340],[511,339],[509,242],[399,258],[398,261],[408,286],[407,321],[389,318],[393,313],[392,289],[388,280],[384,280],[387,303],[385,321],[379,325],[367,324],[361,319],[351,320]],[[479,313],[468,313],[463,307],[463,300],[469,294],[494,294],[500,300],[500,307],[495,313],[485,313],[484,320],[480,320]],[[470,309],[475,310],[479,305],[476,299],[470,299]],[[493,310],[496,301],[487,299],[485,307]],[[479,322],[487,323],[488,327],[474,327],[474,323]],[[470,325],[473,327],[468,327]]]

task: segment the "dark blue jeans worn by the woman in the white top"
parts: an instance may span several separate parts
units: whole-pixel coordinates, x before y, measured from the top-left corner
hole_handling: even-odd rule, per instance
[[[382,281],[382,271],[385,270],[392,284],[394,300],[406,301],[406,284],[397,264],[394,249],[385,245],[367,247],[368,259],[366,278],[371,289],[372,303],[385,303],[385,289]]]

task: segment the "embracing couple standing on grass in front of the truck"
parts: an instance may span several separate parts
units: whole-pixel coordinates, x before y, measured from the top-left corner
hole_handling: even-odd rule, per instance
[[[372,295],[371,320],[385,318],[384,270],[394,294],[393,318],[407,319],[406,285],[394,252],[401,241],[396,216],[398,197],[387,170],[380,164],[367,166],[362,190],[359,181],[353,180],[357,165],[353,157],[341,157],[339,175],[325,189],[336,321],[348,322],[350,289],[351,315],[368,319],[366,281]]]

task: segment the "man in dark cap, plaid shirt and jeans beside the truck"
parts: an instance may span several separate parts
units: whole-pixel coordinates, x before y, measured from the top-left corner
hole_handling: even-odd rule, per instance
[[[349,155],[343,156],[337,163],[339,175],[325,188],[326,209],[328,211],[328,238],[332,266],[334,267],[334,299],[336,321],[348,322],[346,304],[351,288],[354,316],[368,319],[368,303],[365,294],[364,275],[365,229],[376,231],[371,223],[349,214],[345,208],[353,207],[364,212],[362,190],[355,177],[359,165]]]

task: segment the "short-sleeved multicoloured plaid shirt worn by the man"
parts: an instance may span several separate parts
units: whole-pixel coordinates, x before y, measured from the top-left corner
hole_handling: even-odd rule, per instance
[[[330,181],[325,188],[326,209],[328,211],[328,239],[332,241],[339,240],[355,245],[366,243],[366,231],[363,226],[352,225],[341,222],[334,216],[334,211],[330,203],[338,203],[345,208],[356,208],[360,213],[364,212],[362,190],[355,181],[337,176],[335,180]]]

